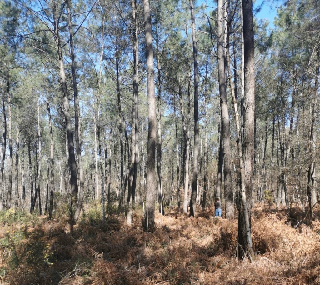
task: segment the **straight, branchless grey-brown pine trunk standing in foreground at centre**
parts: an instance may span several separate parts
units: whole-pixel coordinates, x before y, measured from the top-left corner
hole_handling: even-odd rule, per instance
[[[148,83],[148,145],[147,145],[147,215],[144,229],[155,230],[155,155],[156,155],[156,116],[155,116],[155,82],[152,49],[152,28],[149,0],[143,0],[145,21],[147,83]]]

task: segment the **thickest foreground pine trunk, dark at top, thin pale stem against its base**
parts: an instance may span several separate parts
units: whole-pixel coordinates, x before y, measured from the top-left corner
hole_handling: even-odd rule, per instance
[[[243,170],[240,206],[238,215],[238,254],[254,260],[251,239],[251,197],[254,156],[254,45],[252,0],[242,1],[244,35],[244,133]],[[239,155],[240,156],[240,155]],[[241,167],[241,166],[240,166]]]

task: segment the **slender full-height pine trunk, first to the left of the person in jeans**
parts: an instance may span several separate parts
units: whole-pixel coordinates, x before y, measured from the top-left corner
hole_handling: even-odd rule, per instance
[[[196,215],[196,195],[198,186],[198,155],[199,155],[199,114],[198,114],[198,95],[199,95],[199,74],[198,74],[198,52],[196,42],[196,24],[194,2],[189,0],[191,12],[191,26],[192,26],[192,46],[193,46],[193,65],[194,65],[194,79],[195,79],[195,97],[194,97],[194,118],[195,118],[195,135],[194,135],[194,149],[193,149],[193,176],[192,176],[192,190],[190,200],[190,217]]]

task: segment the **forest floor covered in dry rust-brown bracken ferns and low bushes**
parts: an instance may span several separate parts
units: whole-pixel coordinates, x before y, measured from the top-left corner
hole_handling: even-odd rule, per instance
[[[320,207],[302,211],[256,204],[252,240],[257,258],[236,258],[237,220],[156,214],[143,232],[91,207],[70,233],[67,217],[48,221],[7,210],[0,215],[0,284],[320,284]],[[300,221],[300,222],[299,222]]]

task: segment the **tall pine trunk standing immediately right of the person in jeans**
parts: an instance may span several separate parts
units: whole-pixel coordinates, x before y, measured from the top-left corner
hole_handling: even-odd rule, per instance
[[[224,55],[224,7],[223,0],[218,1],[217,6],[217,51],[218,51],[218,77],[221,108],[221,136],[223,142],[223,176],[224,176],[224,196],[226,218],[234,217],[233,206],[233,187],[232,187],[232,161],[231,161],[231,143],[230,143],[230,122],[227,104],[227,83],[226,83],[226,59]]]

